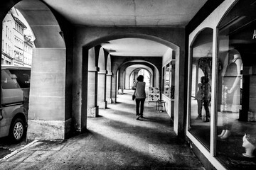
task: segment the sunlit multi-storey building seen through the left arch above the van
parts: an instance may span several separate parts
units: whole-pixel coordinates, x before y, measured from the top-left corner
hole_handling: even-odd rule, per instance
[[[31,67],[33,41],[24,35],[27,27],[18,17],[11,8],[3,20],[1,64]]]

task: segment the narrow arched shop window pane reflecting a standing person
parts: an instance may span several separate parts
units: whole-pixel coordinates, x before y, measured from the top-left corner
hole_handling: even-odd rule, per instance
[[[210,107],[213,30],[206,28],[191,47],[191,108],[189,132],[210,149]]]

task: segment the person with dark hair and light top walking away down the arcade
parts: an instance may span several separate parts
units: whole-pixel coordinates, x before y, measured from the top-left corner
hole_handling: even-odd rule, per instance
[[[132,89],[135,90],[137,120],[139,120],[139,118],[144,118],[143,111],[144,111],[144,102],[146,99],[145,86],[146,86],[146,83],[144,82],[144,76],[142,75],[139,75],[139,77],[137,77],[137,81],[135,81],[134,85],[132,86]]]

